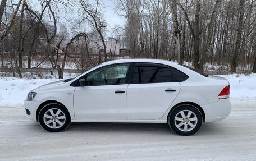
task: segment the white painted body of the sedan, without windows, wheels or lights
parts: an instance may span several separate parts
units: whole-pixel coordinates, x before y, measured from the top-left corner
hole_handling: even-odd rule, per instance
[[[80,76],[99,67],[115,63],[151,62],[172,66],[189,76],[184,82],[156,84],[125,84],[72,87],[70,84]],[[176,62],[158,59],[122,59],[102,63],[69,82],[57,81],[40,86],[32,101],[24,102],[31,112],[28,118],[36,121],[36,109],[45,101],[54,100],[67,108],[72,122],[167,122],[168,113],[175,105],[193,102],[202,107],[205,122],[224,119],[231,110],[230,100],[218,99],[218,94],[229,85],[220,77],[204,77],[199,73],[178,65]],[[166,93],[167,88],[176,92]],[[116,90],[125,91],[115,94]]]

